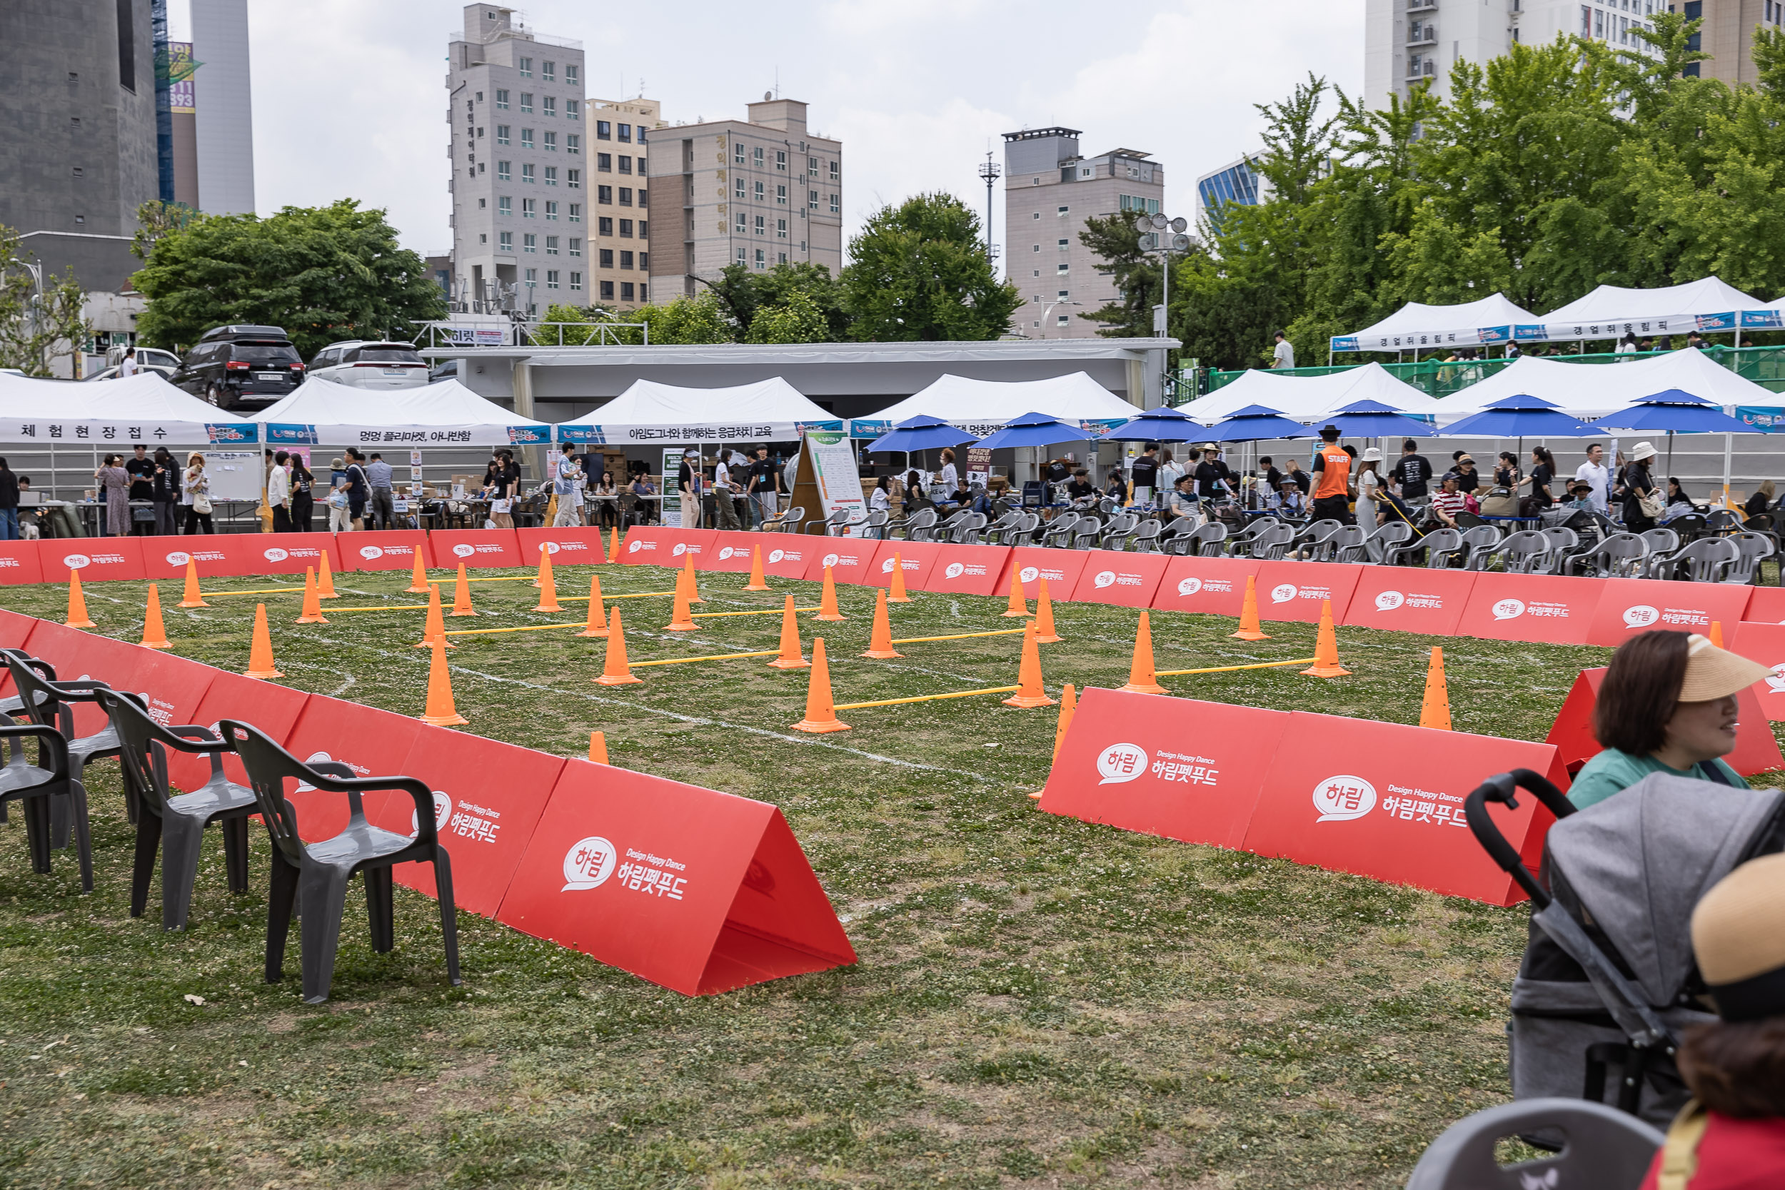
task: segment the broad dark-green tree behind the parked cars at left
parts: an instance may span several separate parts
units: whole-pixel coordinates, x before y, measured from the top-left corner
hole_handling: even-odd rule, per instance
[[[148,298],[137,335],[162,348],[225,323],[266,323],[309,357],[339,339],[407,339],[416,321],[446,310],[384,212],[352,198],[266,219],[196,216],[154,241],[132,284]]]

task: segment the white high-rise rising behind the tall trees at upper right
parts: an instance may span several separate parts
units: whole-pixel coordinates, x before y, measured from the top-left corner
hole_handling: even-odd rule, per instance
[[[1667,0],[1364,0],[1364,100],[1387,107],[1410,86],[1432,82],[1449,98],[1449,68],[1482,62],[1514,45],[1580,34],[1619,50],[1653,54],[1633,34]],[[1696,5],[1687,5],[1696,7]]]

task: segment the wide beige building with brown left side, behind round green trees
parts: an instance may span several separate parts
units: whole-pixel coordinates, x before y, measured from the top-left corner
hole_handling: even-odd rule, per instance
[[[810,260],[843,271],[843,143],[814,136],[800,100],[750,103],[748,120],[652,136],[652,293],[694,296],[726,264]]]

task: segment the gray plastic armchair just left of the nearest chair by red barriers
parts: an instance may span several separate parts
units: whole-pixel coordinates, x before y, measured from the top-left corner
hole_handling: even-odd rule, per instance
[[[248,815],[259,810],[253,790],[223,776],[230,748],[211,730],[164,728],[130,694],[100,690],[100,707],[118,731],[123,780],[136,790],[136,867],[130,872],[130,917],[148,908],[148,881],[161,851],[161,928],[184,930],[198,881],[205,828],[223,831],[223,867],[230,892],[248,892]],[[168,751],[211,756],[211,780],[189,794],[168,787]]]

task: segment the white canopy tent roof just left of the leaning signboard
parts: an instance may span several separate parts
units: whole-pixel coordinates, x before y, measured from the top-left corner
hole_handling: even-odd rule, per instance
[[[803,393],[769,376],[725,389],[684,389],[634,380],[625,393],[587,414],[560,423],[560,442],[610,446],[680,446],[793,441],[807,430],[843,430],[843,419]]]

